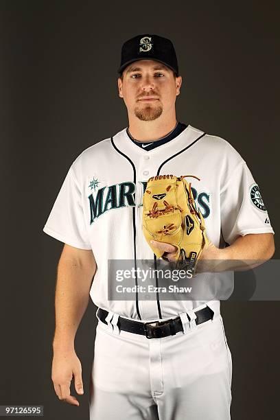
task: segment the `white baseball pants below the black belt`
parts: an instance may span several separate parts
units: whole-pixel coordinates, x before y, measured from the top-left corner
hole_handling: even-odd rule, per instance
[[[99,321],[91,420],[231,418],[232,361],[222,316],[200,325],[180,316],[185,333],[152,339]]]

